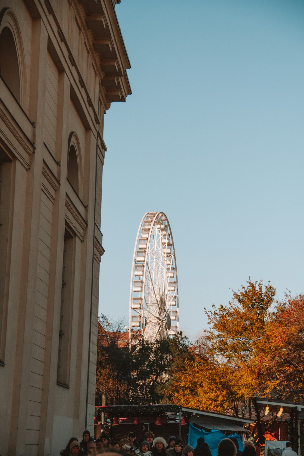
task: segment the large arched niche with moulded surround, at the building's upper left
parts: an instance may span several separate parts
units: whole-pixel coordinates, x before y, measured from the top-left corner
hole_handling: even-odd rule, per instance
[[[26,109],[26,63],[18,21],[10,8],[0,11],[0,73],[14,97]]]

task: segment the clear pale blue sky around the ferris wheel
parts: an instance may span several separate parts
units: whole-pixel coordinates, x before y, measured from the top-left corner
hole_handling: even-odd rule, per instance
[[[132,95],[105,116],[99,311],[129,314],[147,211],[175,243],[180,329],[270,280],[303,293],[304,2],[122,0]]]

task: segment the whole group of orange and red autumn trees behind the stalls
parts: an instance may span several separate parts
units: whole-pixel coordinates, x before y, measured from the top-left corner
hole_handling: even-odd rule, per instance
[[[227,306],[206,311],[209,330],[161,387],[163,400],[236,416],[245,406],[250,415],[255,395],[303,400],[304,297],[275,297],[249,278]]]

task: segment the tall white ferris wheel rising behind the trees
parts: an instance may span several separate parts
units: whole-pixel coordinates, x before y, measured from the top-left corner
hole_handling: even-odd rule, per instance
[[[130,338],[134,330],[141,330],[149,342],[179,331],[175,250],[163,212],[147,212],[137,232],[130,283]]]

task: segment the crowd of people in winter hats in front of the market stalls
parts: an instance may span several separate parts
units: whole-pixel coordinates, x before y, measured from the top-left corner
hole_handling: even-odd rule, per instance
[[[163,437],[155,437],[151,431],[147,431],[143,438],[138,440],[134,432],[129,432],[120,441],[110,441],[106,432],[94,440],[88,430],[83,432],[80,442],[76,437],[72,437],[60,452],[60,456],[94,456],[106,452],[129,456],[211,456],[210,448],[203,437],[197,439],[196,448],[193,448],[191,445],[184,446],[182,440],[175,435],[166,442]],[[232,437],[220,441],[217,456],[257,456],[257,451],[252,442],[246,442],[243,451],[239,451],[237,438]]]

